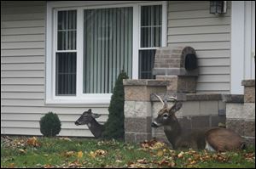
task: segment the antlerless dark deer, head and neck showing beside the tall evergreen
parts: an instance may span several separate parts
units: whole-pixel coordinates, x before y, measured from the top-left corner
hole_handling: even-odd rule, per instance
[[[77,121],[75,121],[75,125],[87,125],[90,129],[90,132],[96,137],[101,138],[102,132],[104,131],[104,126],[95,119],[101,115],[96,113],[92,113],[91,109],[84,111],[84,113],[79,117]]]

